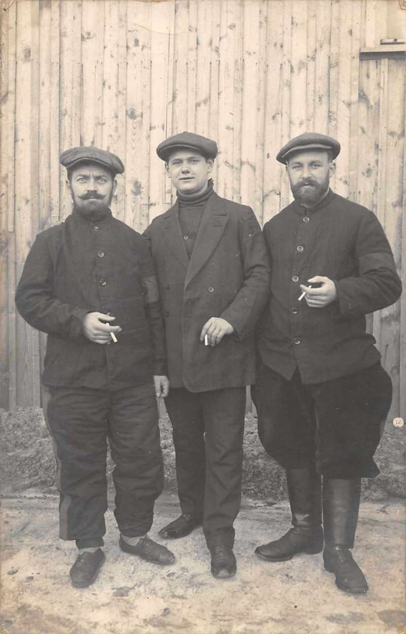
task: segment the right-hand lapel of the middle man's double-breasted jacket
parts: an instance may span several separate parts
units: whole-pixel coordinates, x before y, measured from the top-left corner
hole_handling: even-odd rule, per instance
[[[216,193],[213,193],[207,201],[206,209],[201,219],[198,236],[194,244],[189,268],[187,269],[185,288],[212,255],[213,250],[220,242],[227,222],[228,216],[225,211],[224,200],[217,196]]]

